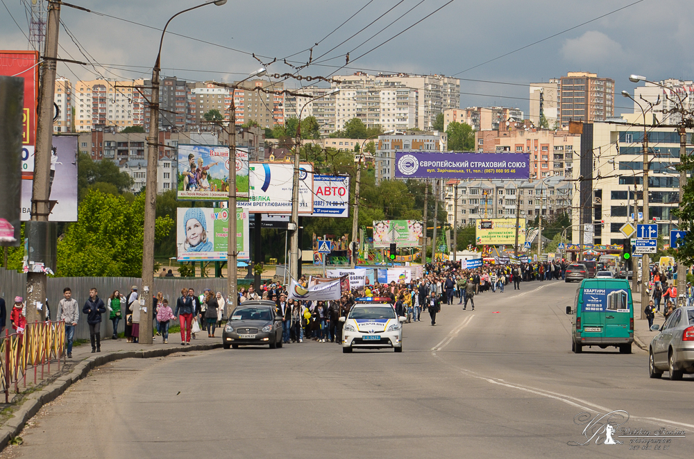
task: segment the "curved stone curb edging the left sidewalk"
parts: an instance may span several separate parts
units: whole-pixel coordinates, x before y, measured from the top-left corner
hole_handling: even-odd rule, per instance
[[[0,451],[5,449],[10,440],[22,431],[26,422],[34,417],[36,413],[49,401],[55,400],[59,395],[62,395],[67,388],[72,386],[80,379],[83,379],[90,371],[96,367],[100,367],[105,363],[115,362],[124,358],[153,358],[165,357],[177,352],[192,352],[192,351],[209,351],[222,347],[222,343],[211,345],[192,345],[186,346],[183,349],[178,347],[167,347],[164,349],[151,349],[149,351],[118,351],[104,353],[100,356],[86,358],[78,363],[71,373],[60,376],[56,381],[49,384],[38,392],[33,392],[26,396],[24,404],[17,408],[14,415],[0,427]]]

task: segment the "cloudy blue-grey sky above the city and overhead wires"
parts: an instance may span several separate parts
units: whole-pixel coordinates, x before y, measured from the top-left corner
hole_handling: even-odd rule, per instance
[[[24,5],[31,1],[0,1],[0,49],[27,49]],[[148,78],[161,36],[155,29],[203,1],[74,3],[102,14],[63,7],[61,19],[74,40],[60,29],[59,56],[105,67],[59,64],[58,73],[71,80]],[[461,78],[462,107],[505,105],[527,114],[527,84],[568,71],[613,78],[616,94],[633,92],[636,85],[627,80],[631,73],[651,80],[693,79],[694,61],[686,46],[694,42],[692,24],[694,8],[685,0],[230,0],[171,21],[162,74],[238,80],[261,67],[253,53],[263,64],[277,59],[267,66],[269,73],[294,73],[284,59],[294,66],[305,64],[310,56],[305,50],[313,47],[312,64],[300,71],[303,76],[359,70],[455,76]],[[340,69],[348,52],[350,62]],[[633,105],[627,102],[616,97],[616,113],[631,112]]]

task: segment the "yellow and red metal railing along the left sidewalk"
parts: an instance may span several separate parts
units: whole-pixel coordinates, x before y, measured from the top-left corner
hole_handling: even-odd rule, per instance
[[[5,331],[0,342],[0,386],[5,403],[10,401],[10,388],[19,393],[19,381],[26,388],[26,378],[34,373],[34,385],[51,373],[55,361],[60,371],[60,359],[65,363],[65,322],[31,322],[22,333]],[[41,376],[38,374],[41,367]]]

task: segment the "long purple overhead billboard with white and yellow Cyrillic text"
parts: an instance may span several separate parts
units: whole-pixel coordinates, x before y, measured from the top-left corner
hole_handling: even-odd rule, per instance
[[[527,180],[530,177],[530,153],[400,151],[395,161],[398,178]]]

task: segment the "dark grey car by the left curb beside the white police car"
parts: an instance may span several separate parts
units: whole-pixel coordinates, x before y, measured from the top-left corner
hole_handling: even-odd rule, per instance
[[[246,301],[232,311],[221,340],[224,349],[259,345],[269,345],[270,349],[282,347],[282,316],[277,314],[274,302]]]

